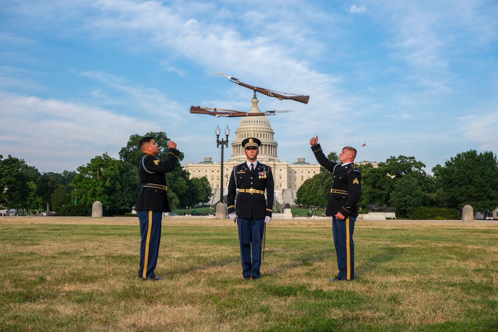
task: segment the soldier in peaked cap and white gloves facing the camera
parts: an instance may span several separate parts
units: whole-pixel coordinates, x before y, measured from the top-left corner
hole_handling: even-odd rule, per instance
[[[257,162],[260,145],[254,137],[242,141],[247,160],[234,167],[228,184],[228,216],[239,228],[243,280],[259,279],[261,240],[273,209],[273,175],[269,166]]]

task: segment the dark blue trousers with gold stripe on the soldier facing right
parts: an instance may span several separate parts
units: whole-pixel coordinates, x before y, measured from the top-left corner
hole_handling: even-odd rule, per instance
[[[138,277],[146,278],[154,275],[159,253],[159,242],[161,241],[162,212],[159,211],[137,211],[136,215],[140,221],[140,267]]]

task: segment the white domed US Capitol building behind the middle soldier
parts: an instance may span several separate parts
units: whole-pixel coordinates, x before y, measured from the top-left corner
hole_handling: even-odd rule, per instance
[[[258,103],[256,93],[254,93],[249,113],[261,112],[259,111]],[[257,160],[270,166],[272,169],[273,180],[275,182],[275,198],[282,205],[286,203],[294,205],[297,189],[304,181],[320,173],[320,165],[307,163],[304,158],[297,158],[297,162],[292,164],[280,161],[277,157],[278,143],[273,139],[274,134],[275,132],[271,129],[270,121],[266,116],[245,116],[241,119],[239,127],[235,130],[235,139],[232,141],[232,156],[229,161],[223,161],[224,191],[227,190],[228,181],[230,180],[234,166],[247,160],[242,148],[242,141],[247,137],[256,137],[261,141]],[[214,204],[219,201],[221,194],[221,162],[213,162],[211,157],[206,157],[202,162],[188,163],[182,165],[182,167],[190,173],[190,178],[200,178],[203,176],[208,178],[213,190],[213,197],[209,203]]]

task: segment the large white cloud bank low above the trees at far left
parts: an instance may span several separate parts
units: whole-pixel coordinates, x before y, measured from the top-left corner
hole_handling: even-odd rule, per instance
[[[0,110],[0,154],[24,159],[41,172],[76,170],[106,151],[118,158],[130,135],[150,131],[147,122],[113,111],[4,92]]]

